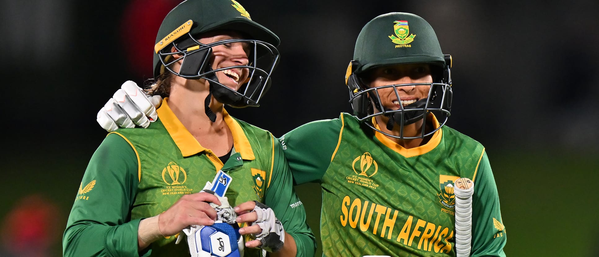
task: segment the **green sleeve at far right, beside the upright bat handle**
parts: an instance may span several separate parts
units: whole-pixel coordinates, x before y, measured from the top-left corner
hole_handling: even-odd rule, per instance
[[[471,256],[506,256],[506,228],[503,226],[497,185],[489,158],[483,153],[474,177]]]

